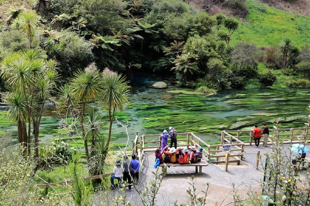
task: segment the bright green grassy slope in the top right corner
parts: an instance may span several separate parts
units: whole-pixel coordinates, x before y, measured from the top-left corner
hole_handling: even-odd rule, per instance
[[[290,38],[294,45],[302,46],[310,42],[310,15],[290,14],[268,7],[257,0],[247,0],[248,15],[233,34],[232,44],[240,40],[258,46],[282,43]]]

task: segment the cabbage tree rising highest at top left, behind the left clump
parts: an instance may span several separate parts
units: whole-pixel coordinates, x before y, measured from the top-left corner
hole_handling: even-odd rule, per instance
[[[21,27],[28,36],[28,47],[31,49],[32,37],[34,34],[34,25],[37,21],[37,15],[34,11],[24,11],[19,16]]]

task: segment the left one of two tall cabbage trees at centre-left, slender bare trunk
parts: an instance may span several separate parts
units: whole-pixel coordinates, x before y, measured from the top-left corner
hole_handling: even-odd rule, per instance
[[[101,76],[97,70],[79,70],[74,74],[72,79],[73,93],[77,101],[82,103],[82,111],[80,116],[80,126],[82,131],[82,138],[84,139],[85,153],[88,157],[87,136],[84,130],[84,113],[86,103],[92,102],[98,98],[101,90]]]

